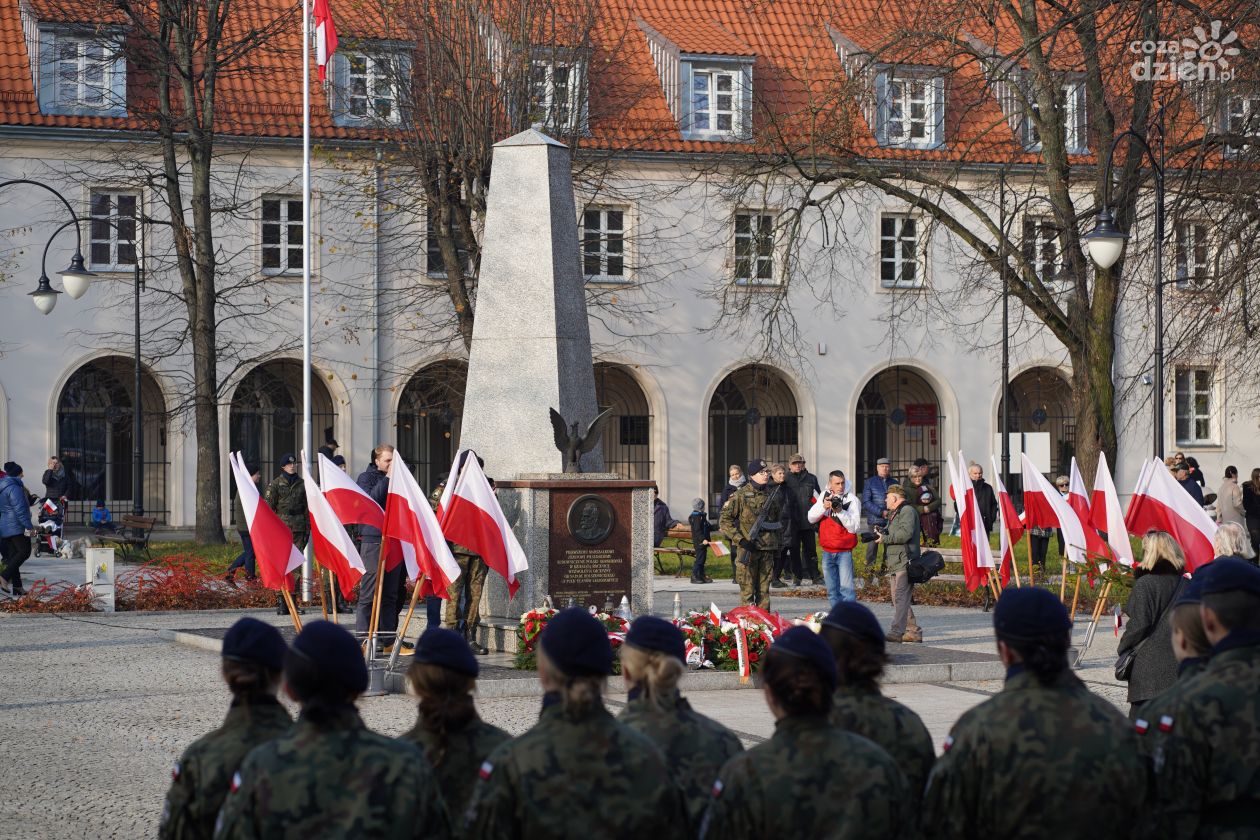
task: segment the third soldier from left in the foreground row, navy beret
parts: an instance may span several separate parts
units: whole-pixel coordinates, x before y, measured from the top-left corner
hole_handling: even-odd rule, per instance
[[[472,691],[480,669],[459,633],[430,627],[416,642],[407,676],[420,698],[420,719],[401,735],[425,753],[437,773],[442,798],[459,819],[472,797],[478,769],[496,747],[512,741],[478,717]]]

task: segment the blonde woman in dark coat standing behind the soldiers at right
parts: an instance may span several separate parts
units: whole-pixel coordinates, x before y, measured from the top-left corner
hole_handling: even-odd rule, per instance
[[[1177,681],[1173,631],[1166,613],[1181,592],[1184,572],[1186,557],[1169,534],[1152,531],[1142,539],[1142,563],[1134,567],[1133,592],[1125,607],[1129,622],[1116,647],[1116,654],[1123,654],[1147,640],[1129,675],[1129,718]]]

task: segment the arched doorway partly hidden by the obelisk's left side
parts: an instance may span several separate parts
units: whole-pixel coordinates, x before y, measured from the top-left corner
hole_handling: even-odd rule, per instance
[[[450,471],[460,445],[467,364],[435,361],[407,380],[394,424],[398,453],[426,491]]]

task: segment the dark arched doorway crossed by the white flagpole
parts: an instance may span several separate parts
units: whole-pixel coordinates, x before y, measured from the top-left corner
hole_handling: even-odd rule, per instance
[[[336,428],[336,407],[319,372],[311,369],[311,446]],[[335,436],[335,433],[334,433]],[[302,448],[302,365],[294,359],[265,361],[244,375],[232,395],[228,446],[262,470],[263,486],[280,472],[280,458]],[[314,461],[315,452],[306,456]],[[232,484],[232,495],[236,485]]]

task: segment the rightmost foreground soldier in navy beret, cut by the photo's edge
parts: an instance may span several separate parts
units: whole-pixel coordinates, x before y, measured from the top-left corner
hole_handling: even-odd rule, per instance
[[[1260,569],[1237,558],[1217,558],[1194,579],[1211,659],[1173,704],[1160,704],[1158,719],[1135,722],[1163,735],[1162,749],[1152,757],[1157,796],[1149,802],[1149,821],[1168,837],[1255,837],[1260,836]]]

